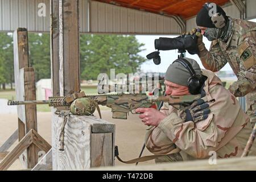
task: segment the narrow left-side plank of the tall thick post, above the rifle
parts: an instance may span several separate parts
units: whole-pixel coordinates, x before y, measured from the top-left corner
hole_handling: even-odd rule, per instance
[[[52,94],[60,96],[59,58],[59,0],[51,0],[51,77]]]

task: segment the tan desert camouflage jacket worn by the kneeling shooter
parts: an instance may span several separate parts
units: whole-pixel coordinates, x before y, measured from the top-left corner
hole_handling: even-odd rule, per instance
[[[161,109],[168,115],[158,127],[147,131],[145,144],[153,154],[168,154],[175,147],[180,148],[177,154],[156,159],[156,162],[193,160],[209,158],[210,151],[216,151],[217,158],[241,156],[250,137],[249,117],[241,109],[236,97],[226,90],[220,78],[213,72],[203,70],[207,76],[204,100],[209,103],[211,113],[208,118],[194,123],[183,122],[180,118],[183,111],[164,105]],[[256,146],[251,148],[250,155],[256,154]]]

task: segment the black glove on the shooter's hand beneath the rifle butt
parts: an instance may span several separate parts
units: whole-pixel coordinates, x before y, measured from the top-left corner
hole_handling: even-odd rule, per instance
[[[181,114],[181,118],[184,122],[193,121],[199,122],[208,118],[210,114],[209,104],[203,99],[193,102],[190,106],[186,107],[184,113]]]

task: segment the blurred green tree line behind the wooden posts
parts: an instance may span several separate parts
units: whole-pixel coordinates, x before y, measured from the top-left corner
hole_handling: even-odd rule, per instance
[[[49,34],[28,34],[29,63],[36,81],[51,78]],[[139,55],[144,44],[128,35],[80,35],[81,80],[96,80],[99,73],[136,73],[146,59]],[[13,34],[0,34],[0,89],[14,82]]]

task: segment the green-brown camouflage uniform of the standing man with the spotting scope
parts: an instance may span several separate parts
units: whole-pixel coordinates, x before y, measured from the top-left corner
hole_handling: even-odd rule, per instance
[[[256,122],[256,23],[232,19],[232,34],[228,41],[214,40],[208,51],[199,45],[199,57],[206,69],[217,72],[229,63],[238,81],[229,90],[236,97],[246,96],[246,113]]]

